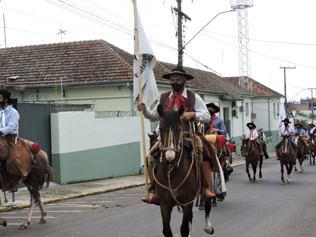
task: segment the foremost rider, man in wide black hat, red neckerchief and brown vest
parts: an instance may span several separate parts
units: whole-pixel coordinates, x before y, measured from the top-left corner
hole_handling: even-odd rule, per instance
[[[146,109],[146,105],[143,102],[137,103],[137,110],[143,110],[146,119],[149,119],[151,122],[157,122],[161,119],[157,112],[158,105],[161,105],[164,111],[167,111],[169,109],[178,110],[182,105],[185,108],[185,112],[181,116],[181,119],[185,125],[186,131],[190,131],[191,119],[195,119],[195,122],[197,123],[205,123],[210,120],[210,113],[208,112],[202,98],[194,91],[185,88],[185,83],[187,82],[187,80],[193,79],[193,76],[186,74],[185,70],[183,69],[176,68],[171,70],[171,73],[163,75],[162,78],[170,81],[173,90],[162,93],[160,99],[158,100],[158,103],[152,111]],[[196,125],[195,131],[196,133],[198,133],[198,128]],[[203,165],[201,167],[201,172],[208,186],[205,187],[203,196],[205,199],[211,199],[216,197],[216,195],[212,193],[210,189],[211,166],[213,167],[213,171],[215,172],[220,172],[220,169],[218,167],[216,155],[214,149],[211,147],[211,144],[202,135],[198,136],[201,138],[204,148]],[[150,168],[148,168],[148,176],[150,184],[153,185],[152,181],[154,180],[154,178]],[[152,204],[157,204],[159,202],[155,186],[152,190],[152,197],[142,198],[142,201]]]

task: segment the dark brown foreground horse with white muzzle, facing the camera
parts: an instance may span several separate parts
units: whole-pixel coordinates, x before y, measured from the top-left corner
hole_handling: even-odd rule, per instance
[[[180,207],[183,212],[182,225],[180,228],[181,236],[193,236],[192,228],[192,208],[193,202],[198,197],[201,189],[198,162],[196,166],[193,159],[183,146],[182,131],[184,125],[180,119],[184,112],[181,106],[178,112],[173,110],[163,111],[161,105],[157,108],[161,117],[159,129],[161,137],[162,154],[160,162],[157,162],[155,180],[157,182],[157,193],[160,200],[160,211],[162,216],[163,231],[166,237],[172,237],[170,228],[171,212],[174,206]],[[205,202],[205,222],[204,231],[213,234],[214,229],[209,222],[211,210],[210,200]]]

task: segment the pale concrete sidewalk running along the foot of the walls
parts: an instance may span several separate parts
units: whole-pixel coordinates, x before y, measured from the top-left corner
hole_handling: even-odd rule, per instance
[[[268,152],[270,158],[276,157],[275,152]],[[269,158],[269,159],[270,159]],[[245,158],[233,155],[233,167],[245,164]],[[83,197],[99,193],[111,192],[145,185],[144,174],[125,176],[112,179],[101,179],[76,184],[59,185],[51,182],[48,189],[40,191],[44,204],[53,203],[69,198]],[[30,206],[30,194],[26,187],[15,192],[15,202],[12,202],[12,193],[6,192],[8,203],[4,203],[2,192],[0,212],[26,208]]]

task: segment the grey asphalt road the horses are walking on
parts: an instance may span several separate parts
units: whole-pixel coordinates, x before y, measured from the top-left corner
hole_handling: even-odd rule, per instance
[[[262,179],[257,173],[257,182],[252,183],[244,165],[234,168],[227,197],[210,213],[213,236],[316,236],[316,166],[306,162],[303,173],[293,171],[292,184],[285,185],[281,185],[278,161],[264,160],[262,173]],[[47,223],[38,224],[37,207],[25,230],[18,228],[28,209],[4,212],[1,216],[8,226],[0,226],[0,233],[15,237],[163,237],[160,208],[141,202],[144,194],[141,186],[46,204]],[[174,208],[171,228],[178,236],[181,221],[182,214]],[[209,236],[203,225],[204,211],[194,207],[194,236]]]

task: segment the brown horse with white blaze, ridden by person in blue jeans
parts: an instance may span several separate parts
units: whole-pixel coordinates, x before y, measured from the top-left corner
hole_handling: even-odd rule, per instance
[[[287,135],[283,135],[281,133],[281,137],[282,138],[282,144],[280,146],[280,164],[281,164],[281,184],[284,184],[284,178],[283,178],[283,172],[284,172],[284,168],[283,166],[285,165],[287,173],[288,173],[288,184],[291,184],[291,172],[293,169],[293,166],[296,163],[296,159],[295,159],[295,153],[294,153],[294,149],[291,145],[291,141],[290,141],[290,137],[288,137]]]

